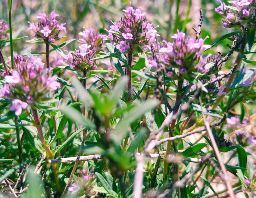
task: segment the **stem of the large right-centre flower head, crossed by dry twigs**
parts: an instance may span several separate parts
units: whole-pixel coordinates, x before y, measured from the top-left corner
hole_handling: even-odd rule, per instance
[[[179,98],[180,98],[180,91],[181,91],[181,89],[182,89],[182,85],[183,85],[183,80],[180,80],[180,81],[178,81],[178,84],[177,84],[177,94],[176,94],[176,99],[175,99],[175,104],[176,104],[176,102],[179,100]],[[172,122],[171,122],[171,125],[170,125],[170,128],[169,128],[169,130],[170,130],[170,132],[169,132],[169,137],[172,137],[173,136],[173,126],[175,125],[175,123],[176,123],[176,119],[175,120],[173,120]],[[166,154],[165,154],[165,158],[166,157],[168,157],[168,155],[170,154],[170,148],[171,148],[171,143],[174,143],[174,141],[168,141],[167,142],[167,147],[166,147]],[[175,145],[173,144],[173,148],[175,147]],[[163,172],[163,176],[164,176],[164,178],[165,178],[165,176],[166,176],[166,174],[167,174],[167,166],[168,166],[168,163],[166,162],[166,160],[164,161],[164,172]]]

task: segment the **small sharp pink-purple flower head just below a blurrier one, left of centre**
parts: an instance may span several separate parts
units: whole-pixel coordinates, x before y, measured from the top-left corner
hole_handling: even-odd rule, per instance
[[[91,60],[96,57],[95,51],[90,49],[91,45],[82,44],[78,50],[75,50],[73,55],[67,54],[67,59],[73,64],[73,69],[78,71],[94,70],[98,68],[98,62]]]

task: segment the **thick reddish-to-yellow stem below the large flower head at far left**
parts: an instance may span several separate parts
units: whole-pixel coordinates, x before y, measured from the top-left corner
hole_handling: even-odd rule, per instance
[[[37,110],[32,108],[32,114],[33,114],[35,125],[36,125],[37,131],[38,131],[39,139],[40,139],[43,147],[46,150],[46,153],[48,155],[47,156],[48,159],[52,160],[54,156],[52,154],[52,151],[51,151],[50,147],[45,144],[45,137],[43,135],[43,130],[42,130],[42,126],[41,126],[41,122],[40,122]],[[61,186],[60,186],[60,181],[59,181],[59,176],[58,176],[58,169],[57,169],[56,164],[52,164],[52,169],[53,169],[53,173],[54,173],[55,181],[56,181],[56,185],[57,185],[56,190],[57,190],[57,192],[60,192]]]

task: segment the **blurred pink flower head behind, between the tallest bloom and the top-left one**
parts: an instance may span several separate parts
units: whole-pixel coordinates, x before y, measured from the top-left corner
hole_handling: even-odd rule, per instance
[[[83,44],[91,45],[90,49],[94,51],[104,50],[103,44],[105,43],[104,41],[107,40],[107,35],[95,32],[92,28],[84,28],[83,32],[80,32],[79,35],[82,36],[79,40]]]

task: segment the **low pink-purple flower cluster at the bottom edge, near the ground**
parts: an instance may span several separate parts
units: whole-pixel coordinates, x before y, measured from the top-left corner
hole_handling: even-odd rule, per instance
[[[95,175],[92,172],[88,172],[86,169],[81,170],[81,177],[75,178],[75,182],[71,184],[68,188],[71,195],[87,195],[95,196],[96,192],[93,189],[93,181],[95,180]]]

